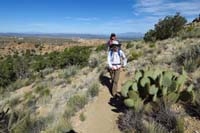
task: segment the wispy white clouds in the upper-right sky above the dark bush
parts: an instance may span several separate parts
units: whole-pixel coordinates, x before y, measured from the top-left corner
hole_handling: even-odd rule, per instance
[[[159,19],[175,15],[176,12],[180,12],[189,21],[200,13],[199,0],[136,0],[132,7],[135,19],[128,20],[127,23],[132,23],[135,29],[140,27],[143,32],[153,28]]]

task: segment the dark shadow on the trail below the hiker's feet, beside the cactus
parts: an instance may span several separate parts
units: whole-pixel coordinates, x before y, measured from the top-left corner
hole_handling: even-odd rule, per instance
[[[121,95],[115,95],[114,97],[110,98],[108,104],[115,107],[115,109],[112,109],[113,112],[122,113],[125,112],[125,110],[127,110],[127,107],[124,105],[124,99],[125,98]]]

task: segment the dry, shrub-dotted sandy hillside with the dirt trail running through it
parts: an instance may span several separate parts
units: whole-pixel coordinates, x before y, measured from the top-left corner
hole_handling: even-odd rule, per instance
[[[134,125],[134,121],[133,123],[127,121],[121,125],[116,122],[123,118],[139,120],[141,127],[144,126],[147,131],[174,130],[173,126],[171,129],[168,128],[170,124],[166,127],[163,123],[159,123],[148,112],[144,113],[142,118],[126,117],[127,110],[134,111],[134,109],[124,105],[123,100],[127,97],[112,98],[110,95],[109,73],[105,69],[107,51],[103,43],[105,40],[76,40],[76,43],[73,42],[71,45],[44,44],[41,49],[29,43],[11,42],[5,45],[1,49],[3,58],[0,63],[3,64],[1,68],[6,65],[7,67],[1,69],[0,73],[5,74],[3,79],[8,78],[9,74],[11,77],[16,74],[16,78],[8,81],[1,80],[0,83],[0,112],[1,115],[5,113],[5,116],[0,117],[0,130],[15,133],[64,133],[72,130],[80,133],[116,133],[124,132],[122,126],[127,128],[127,125],[129,128],[134,127],[131,132],[141,130]],[[78,46],[73,47],[74,45]],[[31,55],[20,54],[19,51],[22,49],[24,51],[36,49],[36,52]],[[184,66],[189,80],[183,88],[193,84],[193,92],[199,94],[199,38],[175,37],[150,43],[143,40],[127,41],[123,42],[122,50],[128,58],[128,65],[121,70],[120,90],[127,80],[135,78],[137,70],[159,68],[173,71],[177,76],[181,75]],[[15,52],[13,54],[8,51]],[[19,52],[17,56],[16,51]],[[12,59],[7,58],[7,55],[12,54],[14,55]],[[26,60],[28,60],[27,66]],[[13,66],[11,66],[12,62],[14,62]],[[18,65],[15,64],[17,62]],[[13,71],[10,72],[11,69]],[[4,73],[5,71],[7,73]],[[18,73],[19,71],[22,73]],[[169,109],[174,116],[170,116],[170,113],[165,114],[159,118],[160,121],[166,120],[166,117],[176,120],[181,116],[184,132],[200,131],[198,126],[200,125],[198,108],[200,103],[199,96],[195,96],[192,102],[181,100],[173,102]],[[154,111],[150,112],[154,113]],[[172,125],[176,126],[177,123]]]

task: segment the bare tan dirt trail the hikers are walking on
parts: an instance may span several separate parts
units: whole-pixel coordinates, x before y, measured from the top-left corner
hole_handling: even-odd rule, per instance
[[[120,80],[119,88],[125,80],[124,71],[121,71]],[[102,87],[99,96],[72,119],[74,130],[78,133],[120,133],[116,124],[119,113],[109,104],[111,98],[107,86]],[[86,117],[83,122],[79,120],[80,113]]]

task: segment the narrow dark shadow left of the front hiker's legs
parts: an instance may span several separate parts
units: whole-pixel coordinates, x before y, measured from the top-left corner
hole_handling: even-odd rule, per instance
[[[111,78],[101,74],[99,76],[99,80],[101,82],[102,85],[106,86],[110,92],[110,95],[112,95],[112,82],[110,81]]]

